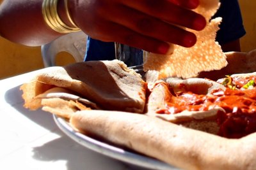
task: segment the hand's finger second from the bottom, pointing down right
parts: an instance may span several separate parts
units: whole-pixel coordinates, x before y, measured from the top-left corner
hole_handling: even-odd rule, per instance
[[[195,34],[125,6],[118,6],[111,14],[106,13],[105,17],[111,18],[111,21],[116,24],[123,25],[148,38],[158,39],[158,41],[185,47],[191,47],[196,43]]]

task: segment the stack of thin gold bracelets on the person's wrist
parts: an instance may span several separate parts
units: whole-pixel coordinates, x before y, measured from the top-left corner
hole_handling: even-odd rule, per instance
[[[57,4],[58,4],[58,0],[43,1],[42,13],[47,25],[49,25],[49,27],[51,27],[51,29],[53,29],[54,31],[60,32],[61,34],[80,31],[80,29],[77,27],[77,25],[74,23],[74,21],[70,17],[70,13],[68,10],[68,1],[65,0],[65,11],[66,11],[67,18],[73,27],[68,26],[61,20],[60,16],[58,15]]]

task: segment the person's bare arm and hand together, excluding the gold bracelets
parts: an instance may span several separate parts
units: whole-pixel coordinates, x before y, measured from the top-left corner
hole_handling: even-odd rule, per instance
[[[195,34],[180,26],[204,29],[205,18],[189,10],[198,4],[198,0],[68,1],[73,20],[88,36],[155,53],[166,53],[168,43],[186,47],[196,43]],[[58,11],[61,19],[67,21],[63,9],[60,0]],[[4,0],[0,25],[1,36],[24,45],[42,45],[61,36],[45,24],[42,0]]]

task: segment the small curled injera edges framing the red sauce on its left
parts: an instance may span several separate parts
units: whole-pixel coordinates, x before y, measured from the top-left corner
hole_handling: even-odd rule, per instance
[[[166,80],[166,85],[168,85],[168,87],[166,88],[164,88],[164,85],[157,85],[157,83],[161,83],[161,81],[162,80],[156,81],[156,87],[151,89],[151,93],[148,96],[146,114],[151,117],[161,118],[175,124],[205,119],[213,119],[214,122],[216,122],[215,118],[218,111],[224,111],[222,108],[213,104],[212,106],[209,106],[209,110],[207,111],[184,110],[177,114],[156,113],[157,110],[166,109],[166,101],[170,101],[169,97],[173,97],[173,99],[175,98],[169,88],[172,89],[173,92],[192,92],[193,94],[203,95],[211,94],[212,90],[215,89],[225,90],[225,87],[220,83],[204,78],[188,78],[186,80],[182,80],[181,78],[168,78]]]

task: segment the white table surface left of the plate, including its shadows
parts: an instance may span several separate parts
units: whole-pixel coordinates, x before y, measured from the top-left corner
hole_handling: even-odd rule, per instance
[[[143,169],[79,145],[60,131],[51,113],[23,108],[20,85],[36,72],[0,80],[0,169]]]

